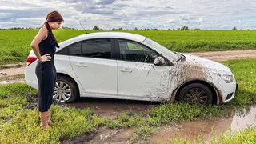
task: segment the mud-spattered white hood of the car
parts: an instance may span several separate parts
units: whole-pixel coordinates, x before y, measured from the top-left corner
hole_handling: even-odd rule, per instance
[[[207,70],[212,73],[232,74],[230,68],[221,63],[214,62],[212,60],[201,58],[191,54],[183,54],[183,55],[186,57],[186,61],[184,61],[185,65],[201,67],[204,70]]]

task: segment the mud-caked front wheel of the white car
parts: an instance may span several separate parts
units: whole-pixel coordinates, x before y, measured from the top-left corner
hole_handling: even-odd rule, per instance
[[[208,86],[201,83],[191,83],[182,88],[178,94],[178,99],[190,104],[211,105],[213,103],[213,93]]]

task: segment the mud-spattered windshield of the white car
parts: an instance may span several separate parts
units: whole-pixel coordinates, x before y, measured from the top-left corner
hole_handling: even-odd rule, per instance
[[[162,45],[158,44],[158,42],[154,42],[150,38],[145,38],[143,42],[146,42],[147,44],[149,44],[152,47],[159,47],[160,50],[162,50],[163,53],[170,54],[170,57],[173,58],[174,61],[177,61],[179,59],[178,54],[174,53],[171,50],[168,50],[165,46],[162,46]]]

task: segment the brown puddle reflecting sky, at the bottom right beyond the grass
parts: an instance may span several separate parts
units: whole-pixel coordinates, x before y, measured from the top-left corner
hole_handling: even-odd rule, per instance
[[[236,112],[233,117],[215,117],[203,121],[181,122],[176,126],[162,126],[150,138],[150,142],[165,142],[170,138],[188,138],[196,140],[198,136],[210,140],[213,135],[223,134],[227,130],[234,133],[248,126],[256,126],[256,107],[250,110]]]

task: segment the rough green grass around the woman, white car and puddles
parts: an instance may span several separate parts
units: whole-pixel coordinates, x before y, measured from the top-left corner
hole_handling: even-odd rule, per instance
[[[78,110],[54,105],[51,109],[54,126],[46,132],[42,132],[38,126],[38,110],[33,106],[30,109],[26,108],[30,103],[29,96],[37,97],[38,91],[22,83],[0,86],[0,143],[59,143],[66,138],[91,133],[99,126],[108,126],[112,129],[133,128],[134,134],[130,141],[135,142],[140,138],[146,139],[162,124],[174,125],[180,121],[229,114],[231,109],[255,104],[256,58],[223,63],[230,67],[238,82],[236,97],[226,105],[195,106],[186,103],[162,103],[152,108],[150,112],[134,114],[128,111],[118,114],[114,119],[100,118],[90,109]],[[255,142],[255,129],[247,129],[239,132],[235,137],[221,137],[211,142]],[[177,142],[190,141],[177,140]]]

